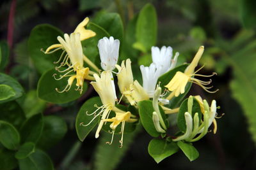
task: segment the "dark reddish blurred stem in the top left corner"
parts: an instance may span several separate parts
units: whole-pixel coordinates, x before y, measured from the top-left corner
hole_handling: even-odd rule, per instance
[[[14,17],[15,17],[15,7],[16,7],[16,0],[12,0],[9,19],[8,19],[8,33],[7,33],[7,41],[10,48],[12,48],[13,43],[13,30],[14,30]]]

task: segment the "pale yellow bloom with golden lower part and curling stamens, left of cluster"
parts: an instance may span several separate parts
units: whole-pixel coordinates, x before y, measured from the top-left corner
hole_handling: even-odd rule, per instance
[[[58,72],[65,74],[61,75],[60,78],[56,78],[56,74],[54,74],[53,76],[56,80],[61,80],[63,77],[67,76],[69,76],[70,78],[68,78],[68,83],[64,90],[56,90],[58,92],[68,91],[72,86],[73,81],[76,79],[76,90],[82,92],[84,79],[94,80],[94,78],[93,76],[90,76],[90,74],[92,74],[92,71],[90,71],[88,67],[83,66],[83,49],[80,41],[80,34],[72,33],[70,34],[70,36],[68,36],[68,34],[64,34],[64,39],[60,36],[58,36],[57,39],[58,41],[60,41],[64,52],[67,53],[63,59],[63,64],[61,64],[60,66],[67,65],[68,68],[60,71],[60,66],[56,67],[56,70]],[[61,55],[61,57],[63,57],[63,54]],[[75,74],[72,74],[72,72],[75,72]]]

